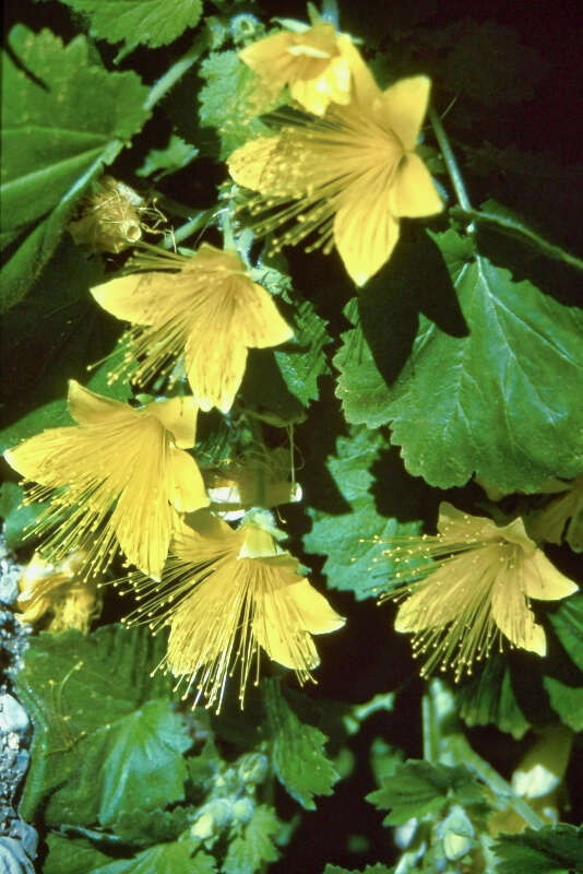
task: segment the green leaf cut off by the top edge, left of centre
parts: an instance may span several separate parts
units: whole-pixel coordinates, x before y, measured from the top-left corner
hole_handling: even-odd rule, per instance
[[[187,27],[195,27],[202,0],[63,0],[87,15],[92,34],[109,43],[141,43],[151,48],[174,42]]]

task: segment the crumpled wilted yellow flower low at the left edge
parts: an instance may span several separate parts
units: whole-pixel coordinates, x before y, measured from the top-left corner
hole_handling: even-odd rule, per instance
[[[79,550],[53,565],[35,553],[19,580],[19,619],[36,623],[48,615],[48,631],[79,628],[87,634],[102,612],[102,598],[93,580],[79,576],[85,558]]]

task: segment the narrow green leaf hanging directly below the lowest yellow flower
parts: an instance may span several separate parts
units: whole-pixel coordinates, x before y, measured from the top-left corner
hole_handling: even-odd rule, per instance
[[[328,737],[297,718],[282,695],[278,681],[264,681],[262,694],[277,779],[302,807],[313,811],[313,796],[331,795],[340,779],[324,753]]]

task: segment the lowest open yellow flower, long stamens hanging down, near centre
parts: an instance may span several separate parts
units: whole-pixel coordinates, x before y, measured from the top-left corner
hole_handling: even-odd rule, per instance
[[[260,648],[304,683],[319,663],[311,635],[340,628],[344,619],[298,574],[298,562],[254,522],[234,531],[207,511],[193,518],[170,546],[162,583],[141,575],[130,581],[143,603],[128,623],[170,626],[164,664],[221,707],[227,676],[238,664],[239,700],[249,674],[259,681]],[[154,617],[154,618],[152,618]],[[253,668],[254,663],[254,668]]]

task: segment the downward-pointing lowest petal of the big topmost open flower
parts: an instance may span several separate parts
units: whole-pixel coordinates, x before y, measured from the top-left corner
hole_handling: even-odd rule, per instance
[[[398,222],[389,211],[388,188],[370,180],[352,186],[334,217],[334,241],[356,285],[364,285],[389,260],[398,240]]]

